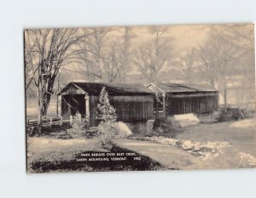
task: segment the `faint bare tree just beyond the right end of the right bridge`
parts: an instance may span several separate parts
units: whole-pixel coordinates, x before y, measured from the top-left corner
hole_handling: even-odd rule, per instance
[[[230,71],[235,68],[235,61],[249,51],[237,42],[233,34],[214,31],[200,48],[201,72],[209,84],[224,94],[224,105],[227,106],[227,81]]]

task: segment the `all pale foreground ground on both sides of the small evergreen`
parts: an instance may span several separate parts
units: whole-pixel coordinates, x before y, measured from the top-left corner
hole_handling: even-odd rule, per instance
[[[123,127],[124,128],[124,127]],[[236,122],[199,123],[184,127],[176,138],[163,136],[113,139],[120,148],[135,151],[166,169],[223,169],[256,167],[256,117]],[[98,139],[29,137],[27,162],[71,161],[86,150],[102,149]]]

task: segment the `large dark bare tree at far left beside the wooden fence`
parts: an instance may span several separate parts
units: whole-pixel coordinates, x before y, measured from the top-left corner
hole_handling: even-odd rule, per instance
[[[42,116],[47,114],[53,94],[55,77],[62,65],[69,64],[80,50],[74,45],[83,39],[79,29],[34,29],[25,31],[25,66],[30,65],[30,83],[38,90],[38,131],[41,133]],[[29,61],[28,61],[29,60]]]

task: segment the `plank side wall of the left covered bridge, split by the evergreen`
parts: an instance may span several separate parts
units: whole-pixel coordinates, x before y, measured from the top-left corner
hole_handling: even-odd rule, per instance
[[[90,96],[90,125],[96,126],[98,96]],[[152,95],[109,95],[109,102],[116,110],[117,121],[134,122],[154,118]]]

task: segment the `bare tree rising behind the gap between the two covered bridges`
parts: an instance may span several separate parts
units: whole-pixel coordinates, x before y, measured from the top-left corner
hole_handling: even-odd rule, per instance
[[[167,31],[165,26],[150,27],[148,31],[151,32],[154,38],[152,41],[144,42],[135,49],[134,63],[148,82],[154,82],[156,87],[158,87],[160,75],[163,74],[171,59],[170,38],[165,37],[165,32]],[[161,103],[159,95],[159,90],[156,88],[155,120],[157,122],[159,122],[159,103]],[[165,104],[163,106],[165,109]],[[158,126],[159,123],[155,125]]]

